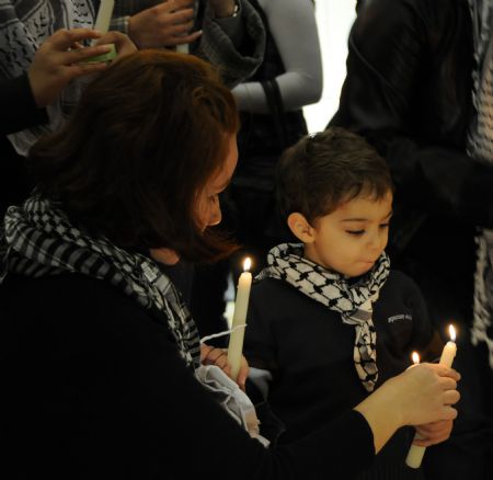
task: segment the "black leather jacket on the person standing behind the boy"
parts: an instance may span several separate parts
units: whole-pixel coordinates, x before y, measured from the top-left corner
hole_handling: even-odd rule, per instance
[[[367,0],[330,122],[364,135],[397,185],[389,253],[434,321],[472,317],[477,226],[493,226],[493,168],[466,152],[472,110],[467,0]]]

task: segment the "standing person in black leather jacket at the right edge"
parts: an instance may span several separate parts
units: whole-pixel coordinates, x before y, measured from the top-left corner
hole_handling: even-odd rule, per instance
[[[397,186],[392,263],[420,285],[436,329],[459,330],[461,415],[447,445],[425,456],[434,479],[492,476],[492,254],[478,236],[493,227],[491,151],[478,149],[493,133],[483,122],[490,94],[480,96],[490,81],[492,10],[491,0],[359,1],[330,121],[362,134],[386,158]],[[475,241],[483,245],[483,288],[473,319]]]

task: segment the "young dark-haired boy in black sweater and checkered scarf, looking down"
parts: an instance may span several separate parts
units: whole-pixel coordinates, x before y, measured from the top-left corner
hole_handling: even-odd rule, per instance
[[[390,270],[392,181],[363,138],[341,128],[307,136],[284,155],[277,181],[301,243],[271,250],[252,287],[244,354],[286,427],[285,443],[402,373],[413,350],[423,358],[434,332],[416,285]],[[450,430],[446,422],[421,433],[438,442]],[[399,431],[360,478],[423,478],[405,467],[413,435]]]

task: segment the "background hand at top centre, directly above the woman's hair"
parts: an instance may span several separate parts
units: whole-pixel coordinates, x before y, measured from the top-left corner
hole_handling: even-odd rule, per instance
[[[128,35],[139,48],[157,48],[190,44],[202,32],[188,32],[194,26],[193,0],[167,0],[130,16]]]

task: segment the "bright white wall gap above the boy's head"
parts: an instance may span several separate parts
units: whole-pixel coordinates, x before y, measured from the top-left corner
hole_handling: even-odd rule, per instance
[[[346,76],[347,35],[356,16],[355,5],[356,0],[316,0],[324,82],[320,102],[303,110],[310,133],[323,130],[337,110]]]

